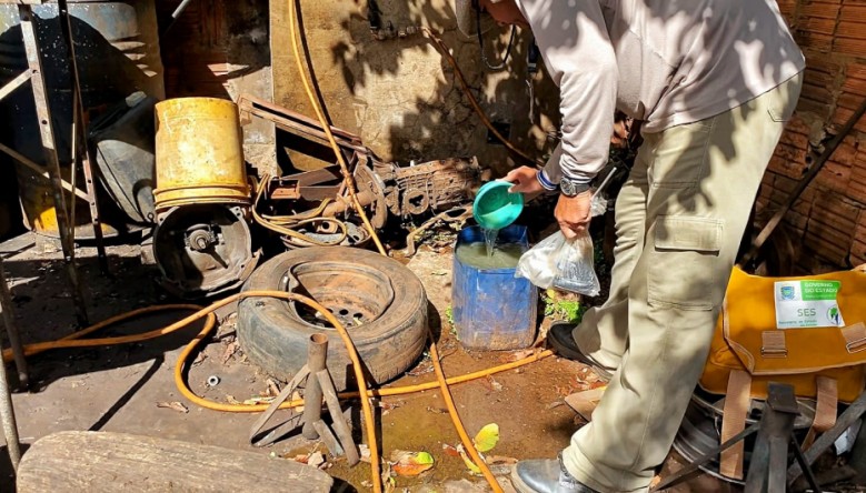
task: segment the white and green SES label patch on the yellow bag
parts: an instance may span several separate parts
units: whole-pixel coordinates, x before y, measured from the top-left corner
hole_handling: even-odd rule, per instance
[[[840,286],[839,281],[776,282],[776,328],[845,326],[836,301]]]

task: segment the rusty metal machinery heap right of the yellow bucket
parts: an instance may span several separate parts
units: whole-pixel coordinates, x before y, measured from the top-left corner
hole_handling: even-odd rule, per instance
[[[299,113],[253,97],[241,95],[238,105],[241,124],[256,117],[285,132],[288,135],[285,151],[292,167],[302,170],[267,177],[253,203],[253,213],[301,234],[286,234],[287,248],[366,242],[368,233],[350,217],[351,204],[346,198],[342,175],[339,167],[332,164],[334,154],[321,127]],[[382,228],[389,217],[420,218],[465,204],[482,179],[476,159],[400,167],[377,159],[358,135],[336,128],[331,131],[352,170],[358,201],[370,211],[370,222],[376,229]]]

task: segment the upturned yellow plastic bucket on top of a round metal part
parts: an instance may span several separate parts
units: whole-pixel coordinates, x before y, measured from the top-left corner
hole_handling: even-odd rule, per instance
[[[190,203],[249,203],[238,107],[215,98],[156,105],[157,210]]]

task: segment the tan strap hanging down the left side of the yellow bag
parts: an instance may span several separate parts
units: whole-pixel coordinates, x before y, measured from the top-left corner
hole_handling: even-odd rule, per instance
[[[728,390],[725,394],[720,443],[727,442],[746,429],[746,416],[748,416],[749,404],[751,403],[750,394],[751,375],[743,370],[733,370],[728,375]],[[743,441],[737,442],[730,449],[721,451],[718,472],[721,475],[741,480],[745,454],[746,444]]]

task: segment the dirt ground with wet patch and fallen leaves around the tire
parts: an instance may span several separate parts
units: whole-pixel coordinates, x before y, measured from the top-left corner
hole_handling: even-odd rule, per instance
[[[26,234],[0,245],[24,343],[58,339],[76,330],[60,253],[41,243]],[[78,250],[91,322],[132,309],[171,302],[156,288],[155,273],[141,265],[139,248],[135,240],[131,243],[109,248],[111,276],[100,274],[94,249]],[[432,319],[446,320],[446,309],[450,304],[451,254],[421,249],[408,265],[427,289],[437,312]],[[235,339],[232,311],[233,308],[228,306],[218,313],[221,322],[218,335],[208,341],[203,355],[196,360],[189,372],[193,392],[223,403],[259,396],[268,388],[267,375],[247,361],[242,348],[231,351]],[[163,326],[181,314],[163,312],[102,333],[138,333]],[[441,323],[447,325],[447,322]],[[29,358],[32,391],[19,391],[13,396],[22,441],[30,444],[58,431],[93,430],[251,450],[275,460],[326,450],[322,444],[297,435],[269,447],[252,447],[248,435],[256,414],[210,411],[183,399],[175,386],[172,372],[180,350],[197,330],[198,326],[183,329],[146,343],[51,351]],[[501,364],[511,358],[510,353],[466,352],[447,326],[440,332],[439,349],[449,376]],[[10,371],[10,375],[13,373]],[[211,375],[219,378],[215,386],[206,383]],[[424,358],[388,386],[432,380],[429,359]],[[547,358],[490,379],[454,385],[452,395],[470,435],[487,423],[499,425],[500,441],[491,454],[515,459],[553,457],[584,424],[563,403],[563,398],[581,389],[586,381],[587,369],[583,365]],[[182,403],[188,412],[157,405],[171,402]],[[350,414],[357,417],[358,403],[351,403],[351,408]],[[488,490],[484,479],[471,475],[460,457],[444,452],[444,444],[456,445],[459,439],[438,390],[384,398],[377,413],[380,450],[385,456],[394,450],[426,451],[436,461],[435,467],[420,476],[397,477],[398,491]],[[3,461],[0,490],[8,491],[13,477],[4,451],[0,452],[0,461]],[[358,491],[369,490],[366,487],[369,481],[367,464],[350,469],[339,459],[329,460],[329,463],[328,471],[335,477]],[[666,470],[680,466],[680,462],[671,457]],[[496,471],[502,474],[501,482],[510,489],[508,467]],[[226,485],[226,490],[232,490],[232,485]],[[725,483],[700,476],[677,491],[728,490],[730,487]]]

